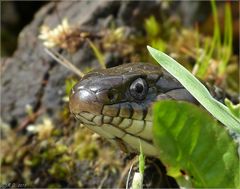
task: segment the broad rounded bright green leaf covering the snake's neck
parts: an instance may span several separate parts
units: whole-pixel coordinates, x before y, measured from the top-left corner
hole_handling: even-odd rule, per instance
[[[206,111],[187,102],[153,107],[159,158],[182,187],[240,187],[237,144]]]

